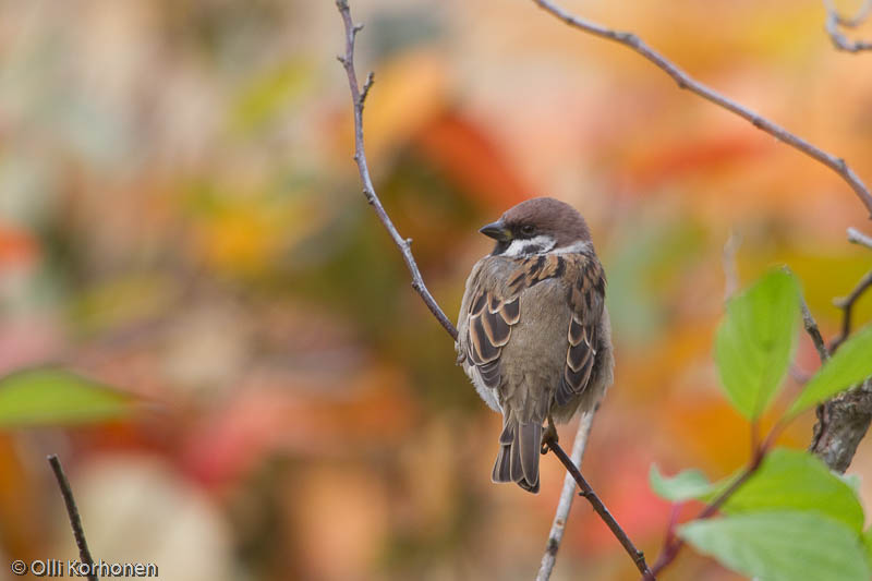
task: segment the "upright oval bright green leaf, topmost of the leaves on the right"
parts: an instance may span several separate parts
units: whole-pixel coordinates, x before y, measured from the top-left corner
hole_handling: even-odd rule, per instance
[[[766,410],[782,383],[796,338],[799,292],[794,277],[773,270],[727,303],[717,329],[720,383],[749,420]]]

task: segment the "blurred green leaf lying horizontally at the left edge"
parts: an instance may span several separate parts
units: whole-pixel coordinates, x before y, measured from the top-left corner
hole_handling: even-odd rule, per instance
[[[126,394],[53,368],[28,370],[0,379],[0,426],[100,422],[131,412]]]

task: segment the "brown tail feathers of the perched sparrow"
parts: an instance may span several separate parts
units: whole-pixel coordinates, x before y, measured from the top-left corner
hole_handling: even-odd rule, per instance
[[[521,423],[506,417],[491,479],[494,482],[516,482],[524,491],[537,493],[541,439],[541,422]]]

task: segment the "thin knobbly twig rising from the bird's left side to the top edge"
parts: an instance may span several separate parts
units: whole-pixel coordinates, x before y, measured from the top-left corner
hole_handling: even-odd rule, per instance
[[[445,312],[439,307],[436,303],[436,300],[427,290],[427,287],[424,285],[424,279],[421,277],[421,271],[417,268],[417,264],[415,263],[415,258],[412,255],[412,239],[411,238],[402,238],[400,233],[397,231],[397,227],[393,226],[393,221],[391,221],[388,213],[385,211],[385,207],[382,205],[382,201],[378,198],[378,195],[375,193],[375,186],[373,185],[373,179],[370,177],[370,167],[366,164],[366,153],[363,147],[363,106],[366,101],[366,97],[370,94],[370,89],[373,86],[373,73],[370,73],[366,76],[366,81],[363,84],[363,88],[358,85],[358,73],[354,71],[354,39],[358,36],[358,33],[363,29],[363,24],[354,24],[351,20],[351,11],[348,7],[348,0],[337,0],[336,7],[339,9],[339,14],[342,16],[342,22],[346,26],[346,53],[344,56],[339,57],[339,62],[342,63],[342,66],[346,69],[346,74],[348,75],[348,86],[351,90],[351,101],[354,108],[354,161],[358,162],[358,170],[361,174],[361,181],[363,182],[363,195],[366,196],[366,201],[373,206],[373,209],[378,216],[378,219],[382,220],[382,223],[387,229],[390,238],[393,239],[393,243],[397,244],[397,247],[400,249],[400,253],[402,254],[403,261],[405,261],[405,266],[409,268],[409,273],[412,275],[412,288],[421,295],[421,299],[424,301],[424,304],[427,305],[433,316],[445,327],[445,330],[448,331],[448,335],[451,336],[453,340],[457,340],[457,328],[451,323],[451,320],[445,315]]]

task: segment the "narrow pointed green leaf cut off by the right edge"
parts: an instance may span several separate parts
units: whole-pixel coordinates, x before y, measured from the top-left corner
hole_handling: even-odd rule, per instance
[[[838,348],[829,361],[809,379],[787,413],[796,415],[869,376],[872,376],[872,325],[857,332]]]

